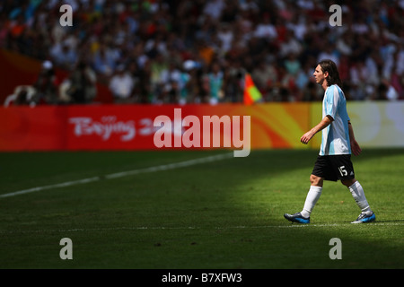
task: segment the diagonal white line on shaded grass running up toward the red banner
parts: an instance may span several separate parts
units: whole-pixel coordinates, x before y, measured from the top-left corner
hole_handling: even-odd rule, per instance
[[[222,154],[207,156],[205,158],[199,158],[199,159],[189,160],[189,161],[180,161],[180,162],[164,164],[164,165],[159,165],[159,166],[140,169],[140,170],[127,170],[127,171],[122,171],[122,172],[117,172],[117,173],[111,173],[111,174],[107,174],[102,177],[83,178],[83,179],[79,179],[79,180],[66,181],[63,183],[58,183],[58,184],[44,186],[44,187],[32,187],[29,189],[19,190],[19,191],[11,192],[8,194],[0,195],[0,198],[19,196],[19,195],[28,194],[31,192],[50,189],[50,188],[82,185],[82,184],[89,183],[89,182],[99,181],[101,179],[122,178],[122,177],[127,177],[127,176],[133,176],[133,175],[140,174],[140,173],[155,172],[155,171],[160,171],[160,170],[174,170],[174,169],[179,169],[179,168],[183,168],[183,167],[189,167],[191,165],[196,165],[199,163],[221,161],[221,160],[228,159],[231,157],[233,157],[233,152],[222,153]]]

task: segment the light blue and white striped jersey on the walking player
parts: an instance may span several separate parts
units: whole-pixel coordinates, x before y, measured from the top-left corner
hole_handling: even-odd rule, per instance
[[[347,100],[344,92],[333,84],[324,92],[322,118],[331,116],[334,121],[322,130],[320,155],[350,154]]]

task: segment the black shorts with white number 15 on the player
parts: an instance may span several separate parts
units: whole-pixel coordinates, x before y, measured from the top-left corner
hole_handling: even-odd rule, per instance
[[[355,178],[351,155],[319,155],[314,163],[312,175],[331,181]]]

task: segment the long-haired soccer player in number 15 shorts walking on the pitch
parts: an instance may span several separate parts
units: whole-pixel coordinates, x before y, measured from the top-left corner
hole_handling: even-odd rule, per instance
[[[321,196],[323,180],[337,181],[348,187],[361,214],[352,223],[373,222],[376,218],[366,197],[364,188],[355,178],[351,153],[362,152],[356,142],[354,130],[347,115],[347,100],[341,90],[337,65],[331,60],[322,60],[314,71],[316,83],[324,89],[322,120],[302,135],[300,141],[309,143],[314,135],[322,131],[321,148],[310,176],[311,187],[300,213],[285,213],[290,222],[310,223],[310,214]]]

